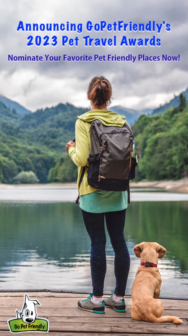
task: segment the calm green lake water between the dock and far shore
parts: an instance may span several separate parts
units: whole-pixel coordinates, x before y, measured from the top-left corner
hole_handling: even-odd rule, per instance
[[[90,240],[76,198],[75,187],[0,189],[0,291],[92,291]],[[187,194],[132,190],[125,221],[131,256],[127,295],[139,266],[133,247],[153,241],[167,249],[158,264],[161,297],[188,298],[187,218]],[[106,253],[104,292],[110,293],[115,277],[108,234]]]

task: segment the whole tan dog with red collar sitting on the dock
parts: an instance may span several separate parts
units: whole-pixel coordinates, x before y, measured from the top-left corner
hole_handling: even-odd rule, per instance
[[[160,296],[161,274],[158,267],[158,258],[163,258],[167,250],[158,243],[143,242],[134,248],[135,255],[140,258],[139,266],[132,285],[131,317],[133,320],[146,322],[173,322],[183,323],[175,316],[162,316],[164,309]],[[148,264],[148,265],[147,265]],[[151,266],[155,264],[155,266]]]

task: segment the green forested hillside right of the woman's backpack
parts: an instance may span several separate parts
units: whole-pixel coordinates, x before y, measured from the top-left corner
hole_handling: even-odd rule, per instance
[[[180,179],[188,176],[188,104],[163,115],[142,115],[132,127],[138,151],[137,180]]]

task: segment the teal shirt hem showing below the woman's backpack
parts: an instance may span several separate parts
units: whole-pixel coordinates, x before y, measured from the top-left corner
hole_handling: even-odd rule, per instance
[[[127,191],[96,190],[90,194],[81,195],[79,206],[87,212],[119,211],[127,208]]]

